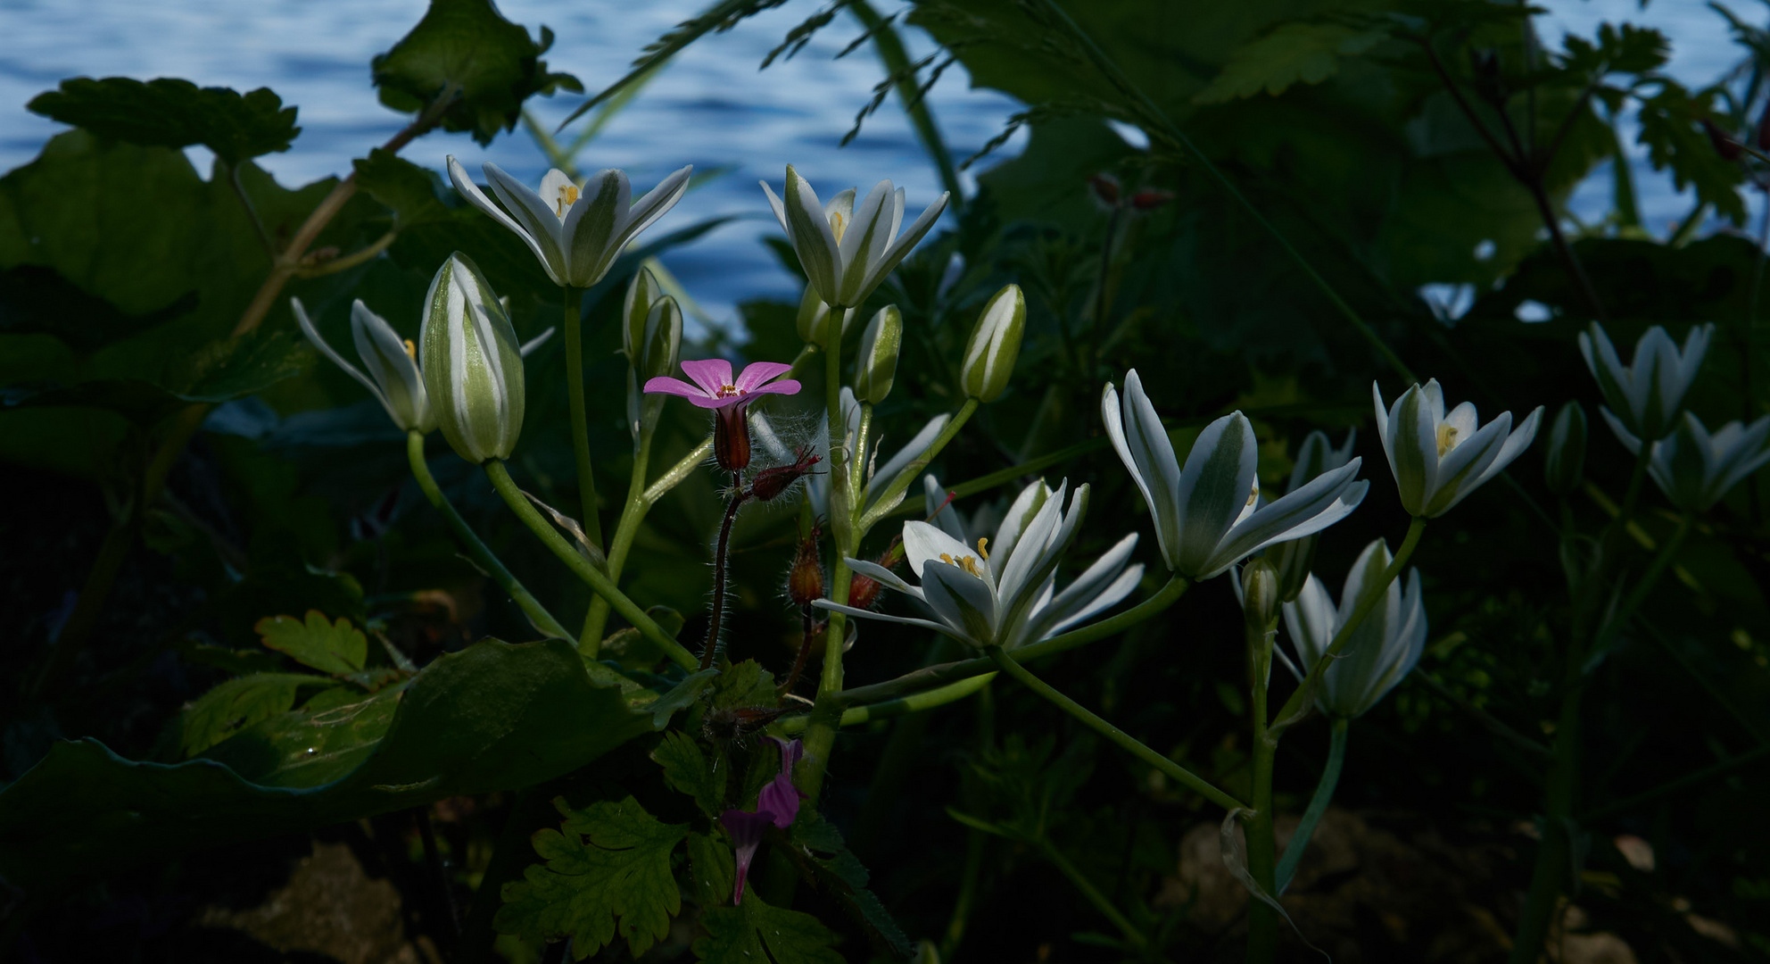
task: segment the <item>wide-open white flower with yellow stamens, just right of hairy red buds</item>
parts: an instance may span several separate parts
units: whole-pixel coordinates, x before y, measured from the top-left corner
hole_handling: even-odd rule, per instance
[[[1066,512],[1067,489],[1067,480],[1055,491],[1043,480],[1027,486],[995,539],[977,544],[959,542],[929,523],[904,523],[903,553],[919,587],[883,565],[848,560],[857,574],[920,601],[933,613],[931,620],[837,606],[828,599],[814,604],[851,617],[920,626],[974,647],[1016,649],[1071,629],[1129,595],[1143,567],[1131,565],[1136,548],[1136,533],[1131,533],[1057,592],[1057,564],[1076,537],[1089,498],[1089,487],[1078,487]]]

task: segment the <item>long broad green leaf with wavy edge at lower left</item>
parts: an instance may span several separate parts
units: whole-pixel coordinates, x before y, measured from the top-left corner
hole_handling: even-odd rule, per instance
[[[0,877],[48,891],[195,847],[529,787],[651,730],[651,712],[595,686],[570,643],[481,640],[404,688],[273,716],[182,764],[57,742],[0,790]]]

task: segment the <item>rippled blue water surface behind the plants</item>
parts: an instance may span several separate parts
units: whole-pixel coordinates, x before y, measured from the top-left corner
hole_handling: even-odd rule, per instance
[[[1742,57],[1722,18],[1697,0],[1658,0],[1644,11],[1637,0],[1549,0],[1543,5],[1549,12],[1538,19],[1538,28],[1552,48],[1559,48],[1565,32],[1589,35],[1600,21],[1658,27],[1673,39],[1671,73],[1687,85],[1713,83]],[[260,163],[285,184],[349,170],[350,158],[402,126],[402,115],[375,101],[368,62],[411,30],[425,7],[425,0],[0,0],[0,35],[5,35],[0,44],[0,170],[27,163],[62,129],[28,113],[25,103],[78,74],[182,76],[241,90],[267,85],[301,108],[304,129],[292,151],[260,158]],[[701,4],[503,0],[499,7],[531,32],[550,27],[558,35],[547,53],[550,67],[570,71],[586,89],[596,90],[620,78],[646,43],[697,12]],[[579,158],[586,170],[627,168],[635,191],[683,163],[701,170],[733,165],[653,229],[673,230],[715,214],[745,216],[666,259],[713,319],[733,317],[735,305],[745,298],[798,294],[789,275],[759,245],[761,236],[779,229],[758,179],[779,184],[786,163],[796,165],[825,195],[890,177],[908,190],[906,216],[940,193],[938,175],[896,97],[867,120],[853,144],[839,147],[855,112],[883,76],[869,46],[835,58],[860,34],[853,19],[839,16],[795,58],[758,71],[781,37],[816,9],[788,4],[690,46]],[[880,9],[899,7],[881,4]],[[1756,5],[1742,5],[1736,12],[1763,19]],[[933,50],[917,30],[903,34],[913,57]],[[556,124],[579,101],[575,96],[536,99],[535,110]],[[963,67],[947,73],[931,92],[929,106],[956,158],[995,136],[1020,108],[1004,94],[972,90]],[[1000,154],[1012,156],[1023,136]],[[1625,138],[1634,140],[1632,122],[1625,126]],[[432,135],[407,156],[441,170],[448,152],[471,170],[480,161],[494,161],[531,183],[547,167],[520,129],[490,147],[464,135]],[[1673,190],[1666,174],[1653,172],[1644,151],[1634,147],[1634,152],[1643,220],[1664,234],[1689,214],[1692,197]],[[193,158],[207,172],[202,149],[193,149]],[[1609,204],[1605,167],[1581,186],[1572,207],[1581,218],[1597,220]]]

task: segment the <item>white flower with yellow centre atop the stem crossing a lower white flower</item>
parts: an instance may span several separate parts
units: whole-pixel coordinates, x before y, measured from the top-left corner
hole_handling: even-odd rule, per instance
[[[1512,459],[1529,448],[1543,416],[1543,408],[1536,406],[1512,431],[1510,411],[1501,411],[1487,425],[1480,425],[1473,402],[1446,415],[1444,390],[1437,379],[1402,392],[1393,408],[1384,408],[1377,383],[1370,383],[1370,393],[1377,404],[1377,436],[1389,455],[1402,509],[1428,519],[1450,512],[1512,464]]]

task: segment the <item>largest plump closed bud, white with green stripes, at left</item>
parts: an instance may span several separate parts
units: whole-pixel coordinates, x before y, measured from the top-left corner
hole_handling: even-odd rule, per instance
[[[418,342],[442,438],[469,463],[508,459],[522,432],[522,353],[510,314],[467,255],[455,252],[437,269]]]

